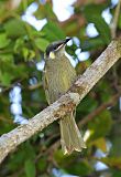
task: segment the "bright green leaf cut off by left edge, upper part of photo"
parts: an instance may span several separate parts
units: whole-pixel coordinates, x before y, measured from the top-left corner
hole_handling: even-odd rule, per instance
[[[7,38],[7,34],[0,33],[0,49],[3,49],[9,44],[10,44],[10,39]]]

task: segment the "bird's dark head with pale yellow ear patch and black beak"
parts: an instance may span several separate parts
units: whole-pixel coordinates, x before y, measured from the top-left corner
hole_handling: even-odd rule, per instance
[[[66,43],[72,40],[72,38],[67,38],[65,40],[56,41],[51,43],[45,51],[45,59],[56,59],[58,56],[64,55]]]

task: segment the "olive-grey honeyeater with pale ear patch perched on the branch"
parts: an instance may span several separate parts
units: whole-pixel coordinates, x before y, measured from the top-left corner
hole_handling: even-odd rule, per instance
[[[65,94],[76,80],[76,71],[65,55],[65,45],[70,39],[56,41],[45,51],[45,67],[43,84],[48,104]],[[75,122],[75,113],[59,119],[61,143],[64,154],[86,148],[80,132]]]

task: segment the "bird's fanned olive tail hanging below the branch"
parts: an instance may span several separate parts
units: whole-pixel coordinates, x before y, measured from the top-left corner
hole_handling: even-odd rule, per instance
[[[81,152],[86,144],[76,125],[75,117],[72,114],[59,121],[61,143],[64,154],[72,154],[73,150]]]

